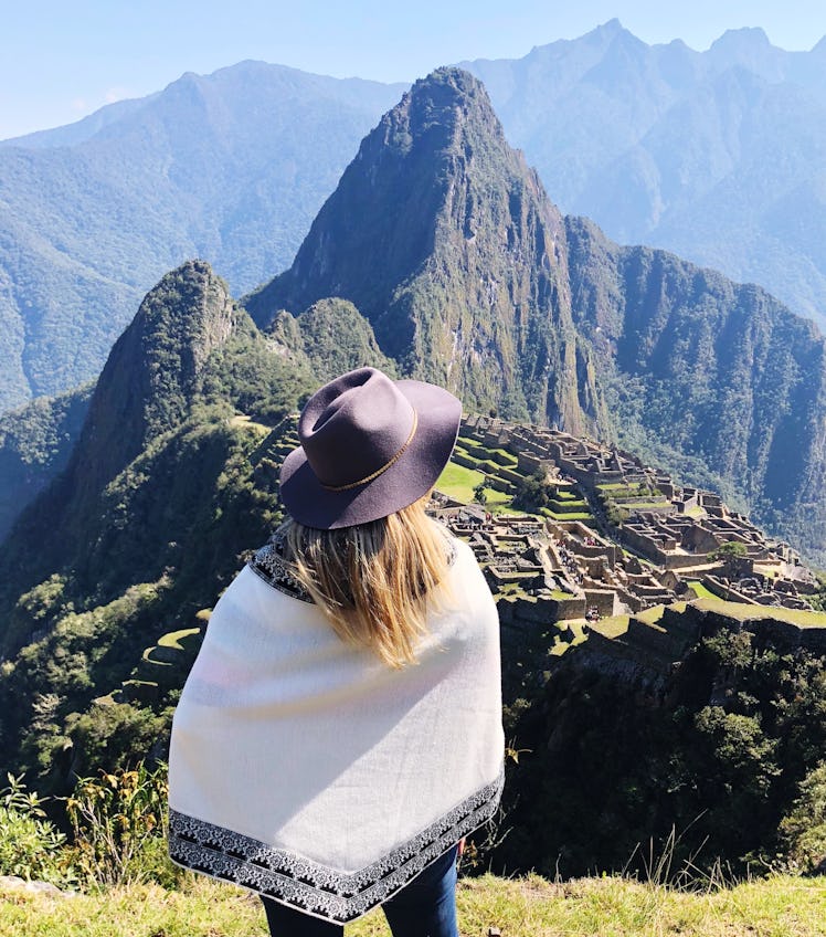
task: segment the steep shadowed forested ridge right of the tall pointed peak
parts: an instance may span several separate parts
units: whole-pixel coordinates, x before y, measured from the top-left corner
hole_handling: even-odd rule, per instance
[[[733,495],[826,561],[826,346],[755,286],[566,220],[578,328],[595,350],[611,432]]]

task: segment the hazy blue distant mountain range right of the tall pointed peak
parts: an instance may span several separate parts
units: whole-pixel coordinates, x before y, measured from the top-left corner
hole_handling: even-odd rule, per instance
[[[730,30],[707,52],[612,20],[463,62],[563,211],[766,287],[826,326],[826,56]]]

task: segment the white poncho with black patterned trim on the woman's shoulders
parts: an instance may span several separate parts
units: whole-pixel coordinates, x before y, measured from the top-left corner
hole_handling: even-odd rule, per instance
[[[470,549],[401,671],[297,598],[277,545],[215,607],[176,712],[170,853],[333,922],[403,887],[496,812],[499,625]]]

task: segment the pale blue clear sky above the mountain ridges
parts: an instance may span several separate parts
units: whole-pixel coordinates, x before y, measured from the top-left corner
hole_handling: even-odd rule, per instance
[[[413,81],[437,65],[518,59],[618,17],[648,42],[705,50],[762,27],[782,49],[826,34],[825,0],[7,0],[0,139],[68,124],[183,72],[244,59]]]

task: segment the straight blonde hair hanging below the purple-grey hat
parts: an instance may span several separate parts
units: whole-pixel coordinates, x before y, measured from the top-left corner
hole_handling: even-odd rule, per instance
[[[293,572],[339,638],[396,668],[415,663],[427,611],[446,598],[448,544],[424,513],[426,501],[338,530],[292,518],[282,527]]]

